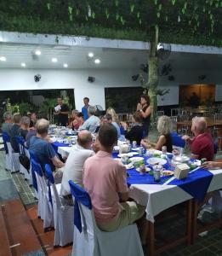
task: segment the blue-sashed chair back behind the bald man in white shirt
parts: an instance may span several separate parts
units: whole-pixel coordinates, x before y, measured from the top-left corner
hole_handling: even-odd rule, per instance
[[[54,175],[51,166],[48,164],[45,165],[45,175],[46,178],[48,179],[48,200],[53,203],[52,201],[52,194],[51,194],[51,185],[54,190],[54,202],[56,207],[61,207],[61,202],[60,202],[60,196],[59,193],[56,189],[55,183],[54,183]]]

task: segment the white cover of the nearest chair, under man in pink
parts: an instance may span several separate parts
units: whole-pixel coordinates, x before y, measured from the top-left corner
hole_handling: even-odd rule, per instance
[[[94,212],[79,203],[82,233],[74,227],[72,254],[77,256],[144,256],[136,224],[114,232],[101,231]]]

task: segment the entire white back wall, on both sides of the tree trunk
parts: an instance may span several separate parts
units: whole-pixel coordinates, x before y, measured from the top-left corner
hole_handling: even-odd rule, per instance
[[[34,75],[40,73],[42,79],[34,82]],[[88,69],[88,70],[37,70],[37,69],[0,69],[0,90],[48,90],[74,89],[76,108],[83,107],[83,97],[90,98],[90,104],[100,104],[105,108],[105,87],[138,86],[139,81],[133,82],[132,75],[138,70],[127,69]],[[160,88],[170,89],[165,96],[158,97],[158,105],[176,105],[179,103],[179,84],[197,84],[198,76],[206,74],[204,83],[217,84],[216,101],[222,101],[222,73],[219,71],[187,70],[174,71],[175,80],[168,81],[167,77],[160,78]],[[94,83],[88,83],[88,76],[95,78]],[[203,82],[202,82],[203,83]],[[122,99],[124,101],[124,99]]]

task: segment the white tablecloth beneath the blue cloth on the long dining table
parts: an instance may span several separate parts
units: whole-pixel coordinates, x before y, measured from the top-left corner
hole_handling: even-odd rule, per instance
[[[62,157],[68,157],[71,147],[59,147]],[[210,171],[213,178],[208,192],[222,189],[222,169]],[[134,184],[129,188],[129,196],[140,205],[146,206],[146,218],[154,223],[155,216],[160,212],[173,207],[183,201],[190,200],[192,196],[176,185]],[[222,205],[222,198],[217,201]]]

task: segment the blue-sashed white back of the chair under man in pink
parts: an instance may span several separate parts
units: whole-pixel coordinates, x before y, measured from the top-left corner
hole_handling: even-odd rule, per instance
[[[74,205],[74,224],[81,233],[87,231],[87,234],[94,236],[94,227],[96,226],[94,220],[94,212],[92,211],[91,199],[87,191],[81,188],[73,181],[69,181],[71,188],[71,195],[75,199]]]

